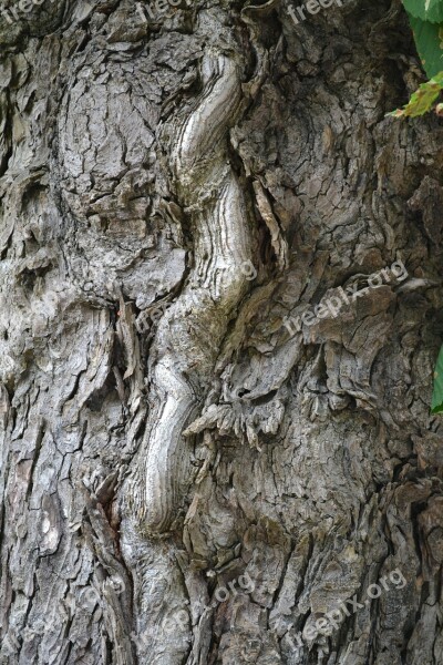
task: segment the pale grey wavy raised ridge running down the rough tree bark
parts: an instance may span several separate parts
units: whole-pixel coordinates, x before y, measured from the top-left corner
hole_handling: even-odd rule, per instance
[[[203,92],[177,130],[171,164],[190,217],[195,267],[158,325],[150,359],[150,424],[124,492],[126,516],[146,535],[169,530],[192,482],[183,432],[210,386],[229,319],[248,288],[241,267],[253,258],[227,141],[241,109],[241,69],[233,55],[213,50],[203,59],[202,81]]]

